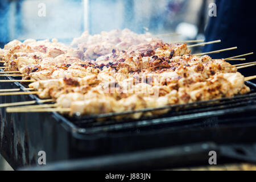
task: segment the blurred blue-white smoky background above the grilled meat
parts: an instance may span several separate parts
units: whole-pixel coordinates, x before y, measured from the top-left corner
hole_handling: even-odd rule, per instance
[[[1,0],[0,42],[58,38],[70,41],[82,32],[115,28],[137,33],[181,33],[167,40],[204,38],[205,0]],[[45,15],[42,10],[45,8]],[[206,10],[206,11],[205,11]]]

